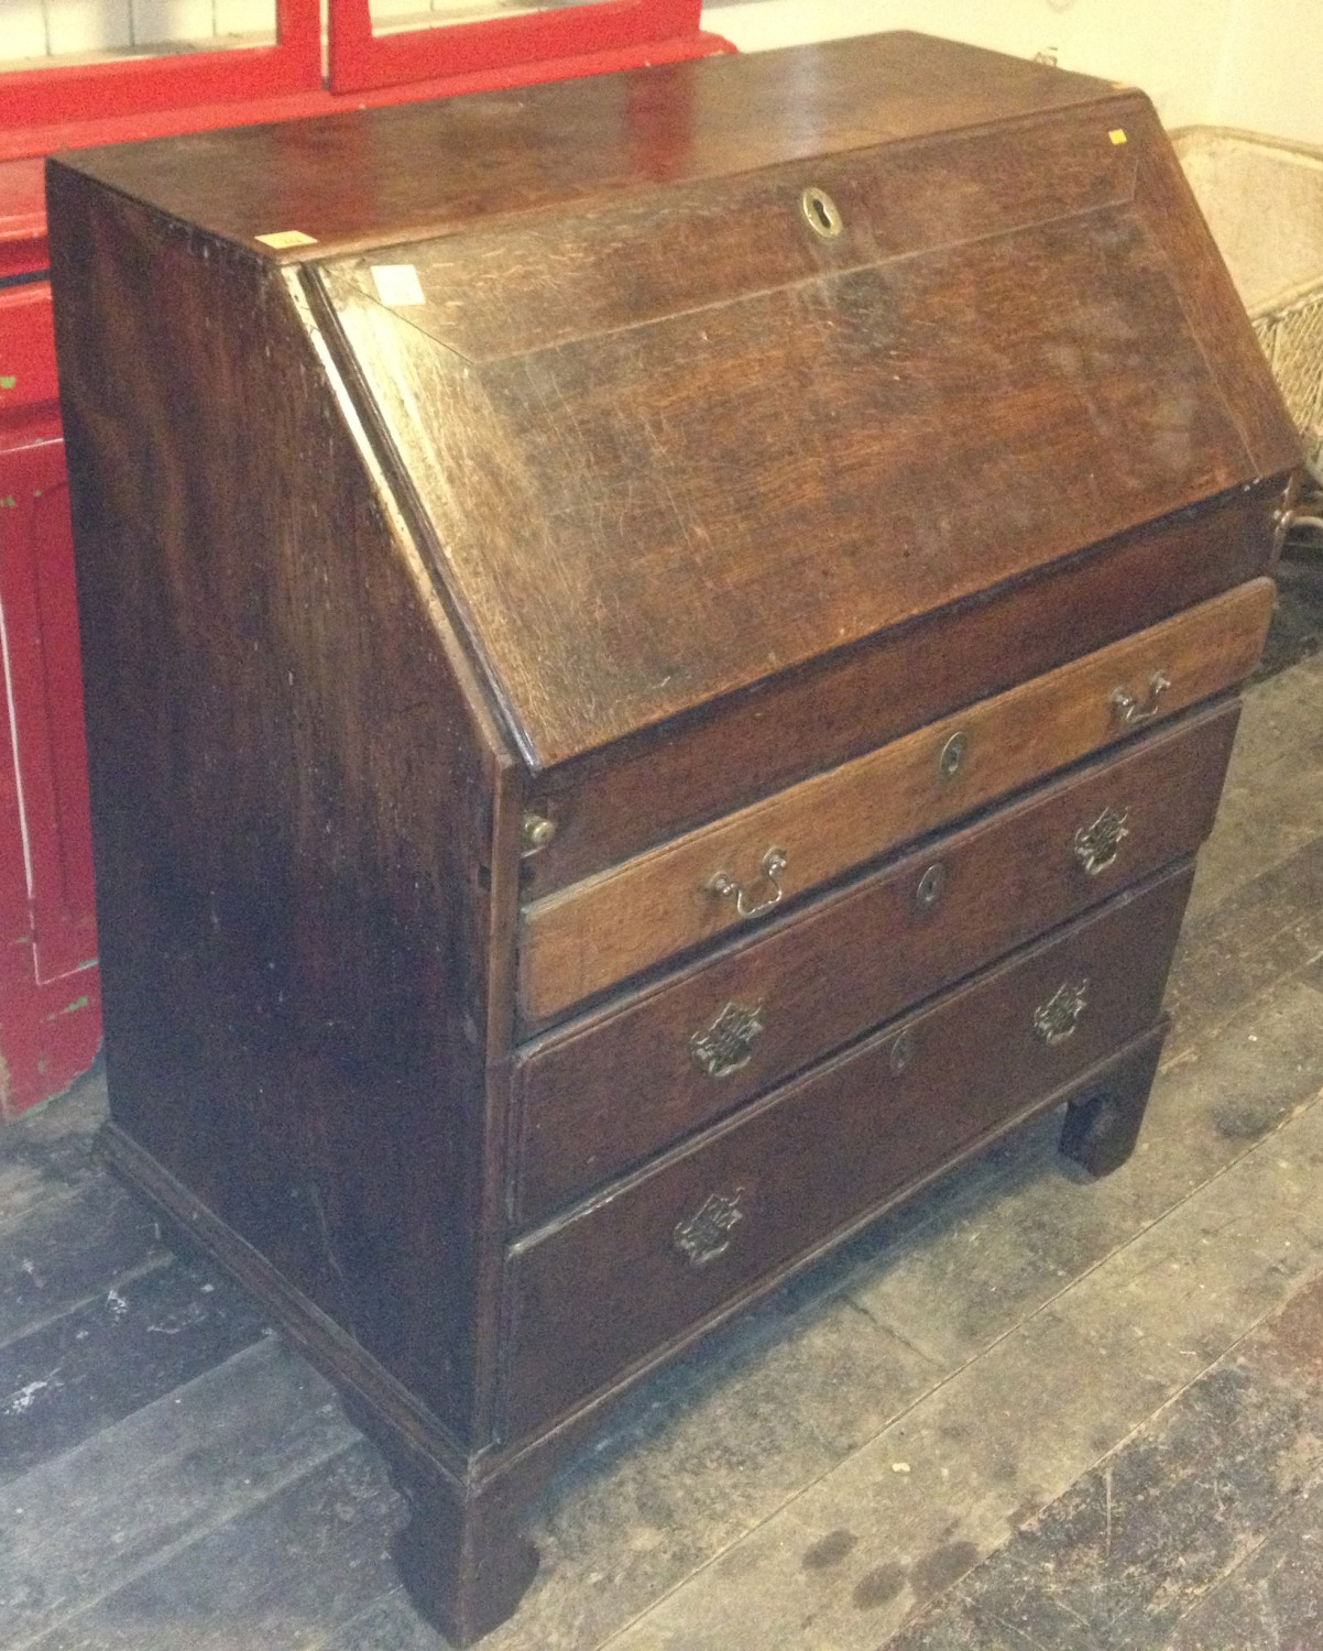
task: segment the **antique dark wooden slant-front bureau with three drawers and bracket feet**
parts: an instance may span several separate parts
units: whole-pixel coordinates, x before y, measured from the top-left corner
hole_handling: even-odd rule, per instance
[[[631,1382],[1044,1108],[1126,1156],[1293,433],[1145,97],[917,35],[50,206],[107,1149],[467,1643]]]

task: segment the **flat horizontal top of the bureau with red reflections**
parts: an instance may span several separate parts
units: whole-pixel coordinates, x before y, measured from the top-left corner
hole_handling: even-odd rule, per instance
[[[78,165],[168,216],[289,263],[1115,101],[1105,81],[923,35],[842,40],[814,53],[811,89],[803,58],[760,53],[728,73],[717,59],[664,64],[119,145]],[[786,122],[791,104],[796,119]],[[315,246],[254,243],[294,228]]]

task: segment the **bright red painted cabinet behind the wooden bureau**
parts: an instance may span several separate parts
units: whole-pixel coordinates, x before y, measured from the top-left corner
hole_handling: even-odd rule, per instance
[[[608,0],[375,35],[368,0],[330,0],[324,81],[317,0],[277,0],[269,46],[0,76],[0,1118],[66,1088],[101,1040],[41,157],[730,51],[699,12]]]

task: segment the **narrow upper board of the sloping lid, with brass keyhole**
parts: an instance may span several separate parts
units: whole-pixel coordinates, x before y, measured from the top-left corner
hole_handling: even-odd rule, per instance
[[[1037,117],[882,157],[875,149],[814,155],[793,172],[760,167],[676,187],[664,201],[634,196],[552,220],[497,218],[459,236],[413,241],[390,254],[415,267],[423,296],[403,319],[482,365],[941,251],[953,236],[983,239],[1123,206],[1135,190],[1133,154],[1095,140],[1112,117],[1108,107],[1084,127]],[[836,239],[804,233],[801,178],[841,210]],[[979,187],[984,180],[989,187]],[[319,266],[337,309],[355,297],[380,304],[372,274],[380,261],[358,253]],[[456,292],[466,294],[462,304]]]

